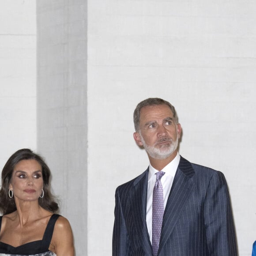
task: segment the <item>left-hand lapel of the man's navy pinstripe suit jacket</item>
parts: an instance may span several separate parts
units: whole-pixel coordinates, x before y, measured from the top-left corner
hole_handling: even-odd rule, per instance
[[[131,193],[133,219],[135,221],[137,236],[144,249],[145,255],[153,256],[152,245],[147,231],[147,180],[148,169],[142,173],[133,183],[134,190]]]

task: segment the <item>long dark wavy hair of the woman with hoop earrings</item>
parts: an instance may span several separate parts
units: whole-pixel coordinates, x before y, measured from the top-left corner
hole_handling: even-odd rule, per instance
[[[13,169],[15,165],[21,160],[36,160],[42,167],[42,177],[44,182],[44,197],[39,197],[38,202],[41,207],[45,210],[56,212],[59,209],[58,203],[55,202],[54,196],[51,192],[51,186],[49,184],[49,179],[51,175],[51,171],[44,159],[39,155],[35,154],[33,151],[27,148],[20,149],[16,151],[11,157],[8,159],[4,168],[2,170],[2,185],[0,189],[0,211],[6,215],[13,211],[16,211],[16,205],[14,198],[10,198],[8,196],[9,184],[11,182],[11,176],[13,173]]]

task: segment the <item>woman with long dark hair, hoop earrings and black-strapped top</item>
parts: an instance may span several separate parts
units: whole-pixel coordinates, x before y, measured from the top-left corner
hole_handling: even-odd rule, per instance
[[[0,255],[74,256],[68,220],[49,185],[50,170],[30,149],[16,151],[2,171]]]

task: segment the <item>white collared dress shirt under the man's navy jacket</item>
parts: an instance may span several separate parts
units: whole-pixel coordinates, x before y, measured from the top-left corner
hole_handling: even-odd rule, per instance
[[[175,173],[177,171],[179,162],[180,162],[180,154],[177,153],[176,157],[170,162],[167,166],[165,166],[161,171],[165,172],[165,175],[161,178],[163,193],[164,193],[164,207],[166,208],[166,203],[168,200],[169,193],[172,188],[173,179]],[[153,201],[153,190],[156,182],[156,175],[158,170],[154,169],[154,167],[149,164],[149,172],[148,172],[148,181],[147,181],[147,231],[150,237],[150,241],[152,243],[152,201]]]

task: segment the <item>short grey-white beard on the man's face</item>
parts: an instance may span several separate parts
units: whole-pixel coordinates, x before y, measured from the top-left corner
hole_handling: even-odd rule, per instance
[[[178,147],[178,143],[179,143],[179,139],[177,136],[176,141],[173,142],[173,139],[159,139],[159,142],[163,142],[163,141],[169,141],[170,145],[162,145],[162,147],[157,148],[155,146],[148,146],[143,137],[141,136],[141,133],[139,132],[139,136],[141,139],[141,142],[143,143],[143,147],[144,149],[147,151],[147,154],[149,154],[152,158],[156,158],[156,159],[166,159],[168,158],[171,154],[173,154],[173,152],[177,149]]]

